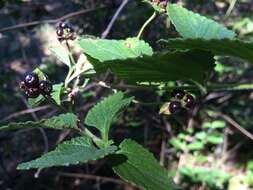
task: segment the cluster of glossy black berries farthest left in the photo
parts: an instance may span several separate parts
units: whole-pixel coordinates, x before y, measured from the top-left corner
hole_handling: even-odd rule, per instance
[[[53,89],[52,83],[47,80],[39,80],[36,73],[29,73],[20,82],[20,88],[25,90],[28,98],[37,98],[40,94],[50,95]]]

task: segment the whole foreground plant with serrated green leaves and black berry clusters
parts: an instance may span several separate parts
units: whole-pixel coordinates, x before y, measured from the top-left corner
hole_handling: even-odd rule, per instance
[[[195,98],[187,90],[198,90],[205,94],[212,90],[253,88],[251,84],[212,84],[208,81],[215,66],[216,55],[235,56],[253,63],[253,43],[236,39],[233,31],[179,5],[167,1],[144,2],[154,8],[154,13],[144,23],[137,37],[125,40],[82,38],[74,33],[69,24],[61,22],[58,25],[56,34],[63,47],[51,48],[51,51],[69,68],[64,83],[52,85],[40,69],[35,69],[21,82],[21,88],[32,105],[49,101],[62,113],[36,122],[9,123],[0,130],[34,127],[70,129],[79,136],[57,145],[55,150],[40,158],[19,164],[19,170],[82,164],[108,157],[113,171],[127,182],[148,190],[179,188],[147,149],[131,139],[125,139],[119,146],[110,139],[113,122],[134,97],[118,91],[117,86],[110,86],[113,94],[95,105],[83,119],[72,111],[75,95],[88,84],[91,76],[109,69],[134,88],[174,90],[171,101],[161,107],[161,114],[170,115],[183,108],[192,109]],[[145,27],[157,14],[167,14],[181,36],[159,40],[163,47],[162,52],[154,52],[141,39]],[[83,50],[82,59],[75,60],[69,45],[70,40]],[[82,84],[80,76],[86,78]],[[168,83],[176,80],[182,81],[182,85],[171,86]],[[106,86],[105,83],[101,85]],[[67,99],[63,101],[63,97]],[[100,135],[93,134],[91,128],[96,128]]]

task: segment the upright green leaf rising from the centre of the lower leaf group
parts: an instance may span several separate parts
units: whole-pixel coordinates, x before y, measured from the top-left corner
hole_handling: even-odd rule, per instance
[[[105,98],[88,112],[85,124],[96,127],[102,133],[104,140],[107,140],[110,126],[132,100],[133,97],[126,98],[122,92]]]

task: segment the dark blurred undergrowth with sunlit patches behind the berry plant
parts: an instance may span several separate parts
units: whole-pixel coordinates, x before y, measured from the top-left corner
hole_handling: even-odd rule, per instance
[[[243,40],[253,40],[252,0],[181,0],[187,8],[225,24]],[[0,0],[0,123],[37,120],[57,112],[49,105],[32,109],[19,81],[36,67],[43,69],[54,83],[64,80],[67,68],[50,53],[59,45],[55,26],[63,16],[79,35],[101,36],[121,0]],[[152,9],[140,0],[130,0],[113,25],[107,38],[121,39],[137,35]],[[13,27],[13,28],[9,28]],[[156,50],[157,40],[177,37],[165,16],[159,16],[144,33],[144,39]],[[253,52],[252,52],[253,53]],[[63,74],[64,73],[64,74]],[[235,58],[217,57],[211,81],[250,83],[252,66]],[[110,76],[100,76],[110,81]],[[141,102],[169,100],[164,91],[129,93]],[[87,110],[109,90],[92,81],[76,100],[76,111]],[[159,107],[133,104],[115,125],[111,134],[116,142],[131,137],[148,147],[168,168],[174,180],[189,190],[253,189],[252,140],[238,132],[239,125],[253,133],[253,93],[210,92],[195,94],[198,105],[192,112],[173,117],[160,116]],[[69,131],[21,130],[0,133],[0,189],[135,189],[119,182],[104,161],[83,166],[42,171],[17,171],[17,163],[30,160],[68,138]],[[141,159],[141,158],[140,158]],[[111,180],[99,179],[106,176]]]

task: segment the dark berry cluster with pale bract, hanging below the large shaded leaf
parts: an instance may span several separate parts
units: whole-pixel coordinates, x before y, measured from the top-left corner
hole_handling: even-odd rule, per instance
[[[180,112],[183,108],[193,109],[196,102],[192,95],[185,93],[182,90],[174,90],[172,92],[173,100],[166,103],[160,110],[160,113],[167,115]]]

